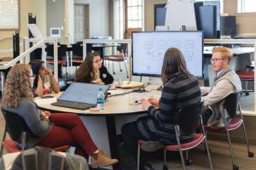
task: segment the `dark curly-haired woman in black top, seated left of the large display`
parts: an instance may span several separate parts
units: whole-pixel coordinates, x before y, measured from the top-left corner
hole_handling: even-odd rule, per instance
[[[102,65],[102,59],[98,54],[87,54],[84,62],[76,71],[75,82],[111,84],[113,77],[107,68]]]

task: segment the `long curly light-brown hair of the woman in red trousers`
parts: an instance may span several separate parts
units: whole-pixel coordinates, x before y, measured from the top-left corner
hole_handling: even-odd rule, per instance
[[[21,99],[33,99],[30,71],[27,64],[17,64],[10,69],[4,84],[3,107],[17,107]]]

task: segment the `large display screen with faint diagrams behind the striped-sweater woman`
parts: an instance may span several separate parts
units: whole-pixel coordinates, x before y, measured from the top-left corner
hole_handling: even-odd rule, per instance
[[[132,75],[159,77],[168,48],[182,51],[188,70],[203,76],[202,31],[137,31],[132,32]]]

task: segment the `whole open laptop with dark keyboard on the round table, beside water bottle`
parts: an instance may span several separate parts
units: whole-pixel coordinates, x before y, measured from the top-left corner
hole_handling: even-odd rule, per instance
[[[93,83],[73,82],[57,102],[51,105],[67,107],[72,109],[86,110],[96,107],[97,94],[99,88],[102,88],[104,94],[107,94],[110,85],[98,85]]]

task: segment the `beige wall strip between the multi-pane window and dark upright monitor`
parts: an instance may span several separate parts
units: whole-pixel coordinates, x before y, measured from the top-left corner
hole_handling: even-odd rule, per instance
[[[167,3],[167,0],[145,0],[144,1],[144,30],[154,31],[154,4]]]

